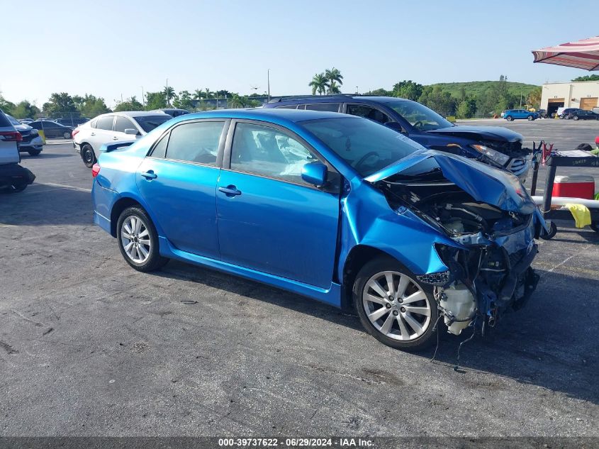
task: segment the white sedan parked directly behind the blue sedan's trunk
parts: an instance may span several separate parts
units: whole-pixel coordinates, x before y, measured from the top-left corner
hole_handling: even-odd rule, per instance
[[[140,138],[171,118],[166,113],[154,111],[104,113],[75,128],[73,145],[86,167],[91,167],[105,143]]]

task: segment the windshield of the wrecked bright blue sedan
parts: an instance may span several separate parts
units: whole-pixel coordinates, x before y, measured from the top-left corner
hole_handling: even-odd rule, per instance
[[[301,122],[362,176],[378,172],[417,150],[419,143],[364,118],[323,118]]]

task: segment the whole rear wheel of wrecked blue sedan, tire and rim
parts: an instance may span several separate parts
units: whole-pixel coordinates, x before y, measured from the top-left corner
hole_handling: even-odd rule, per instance
[[[169,261],[160,255],[154,223],[140,207],[125,209],[118,217],[116,240],[125,262],[140,272],[159,270]]]

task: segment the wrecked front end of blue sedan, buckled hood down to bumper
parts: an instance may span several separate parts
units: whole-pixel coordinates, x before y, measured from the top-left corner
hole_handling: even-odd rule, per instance
[[[435,244],[447,270],[418,276],[432,285],[450,333],[474,324],[484,333],[530,299],[539,281],[530,266],[534,238],[544,223],[513,175],[427,152],[370,180],[398,214],[409,209],[453,240]]]

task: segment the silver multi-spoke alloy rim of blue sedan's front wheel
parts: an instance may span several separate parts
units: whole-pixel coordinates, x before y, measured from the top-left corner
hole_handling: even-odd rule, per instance
[[[430,326],[431,304],[410,277],[384,271],[364,285],[362,306],[372,326],[393,340],[410,341]]]

